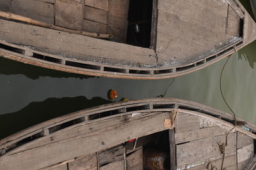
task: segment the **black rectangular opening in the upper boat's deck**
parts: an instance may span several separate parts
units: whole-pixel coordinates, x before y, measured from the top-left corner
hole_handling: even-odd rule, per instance
[[[130,0],[127,44],[150,47],[153,0]]]

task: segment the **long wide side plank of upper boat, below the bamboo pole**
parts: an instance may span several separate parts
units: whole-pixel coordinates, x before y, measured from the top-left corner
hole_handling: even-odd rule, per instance
[[[156,65],[156,57],[152,49],[68,34],[34,25],[18,24],[8,20],[0,20],[0,24],[2,39],[10,43],[33,46],[35,50],[41,52],[94,62],[106,60],[109,62],[109,59],[113,59],[113,64],[140,62],[149,66]],[[118,62],[115,63],[115,60]]]

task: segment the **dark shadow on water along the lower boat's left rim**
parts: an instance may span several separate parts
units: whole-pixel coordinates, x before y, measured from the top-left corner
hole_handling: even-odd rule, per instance
[[[29,103],[22,110],[0,115],[0,139],[52,118],[74,111],[112,103],[101,97],[87,99],[84,96],[49,98],[42,102]]]

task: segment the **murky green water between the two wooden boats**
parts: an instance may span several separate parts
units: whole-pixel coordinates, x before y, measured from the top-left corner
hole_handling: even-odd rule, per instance
[[[248,1],[242,1],[250,10]],[[256,41],[232,55],[223,73],[223,92],[237,117],[256,124]],[[177,97],[230,112],[220,94],[225,59],[175,78],[165,97]],[[120,80],[63,73],[0,58],[0,139],[31,125],[73,111],[118,99],[143,99],[164,94],[168,80]]]

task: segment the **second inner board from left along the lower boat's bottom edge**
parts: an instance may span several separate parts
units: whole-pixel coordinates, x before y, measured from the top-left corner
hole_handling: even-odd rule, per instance
[[[68,169],[87,170],[97,169],[97,154],[84,155],[77,157],[73,162],[68,162]]]

